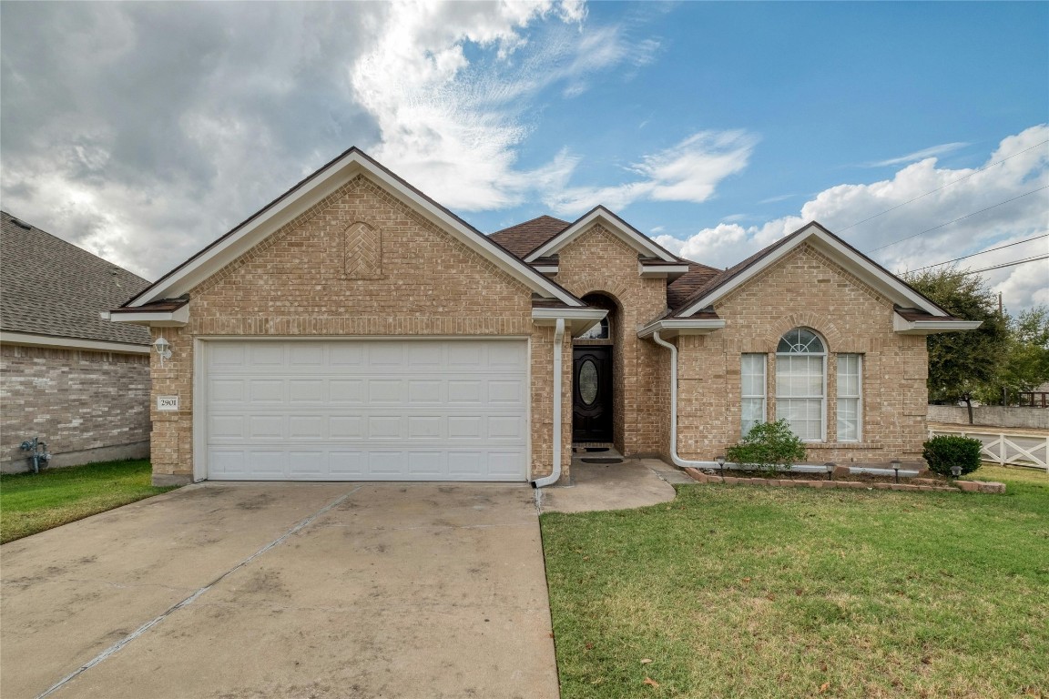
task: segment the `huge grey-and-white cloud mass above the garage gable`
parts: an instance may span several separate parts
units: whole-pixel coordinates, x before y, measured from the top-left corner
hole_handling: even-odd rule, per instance
[[[559,187],[537,94],[658,47],[581,0],[2,10],[4,207],[154,279],[351,145],[459,211]]]

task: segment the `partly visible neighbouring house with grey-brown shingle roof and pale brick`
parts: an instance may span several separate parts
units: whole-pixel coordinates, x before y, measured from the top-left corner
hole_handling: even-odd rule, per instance
[[[0,213],[0,468],[149,456],[149,331],[108,313],[149,282]]]

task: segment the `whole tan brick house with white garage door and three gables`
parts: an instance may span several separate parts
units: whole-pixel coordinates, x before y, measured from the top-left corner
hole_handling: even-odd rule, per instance
[[[919,461],[924,335],[975,327],[816,223],[728,270],[604,207],[488,237],[356,148],[112,319],[170,345],[157,483],[542,485],[574,442],[710,461],[777,416]]]

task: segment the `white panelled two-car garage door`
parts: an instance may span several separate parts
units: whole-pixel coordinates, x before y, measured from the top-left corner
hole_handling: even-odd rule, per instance
[[[204,347],[208,478],[527,479],[524,341]]]

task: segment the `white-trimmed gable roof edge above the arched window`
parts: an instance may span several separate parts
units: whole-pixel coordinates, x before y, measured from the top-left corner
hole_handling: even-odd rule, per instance
[[[949,313],[908,286],[903,280],[816,221],[807,223],[786,238],[711,278],[688,299],[684,300],[671,312],[671,315],[687,318],[708,308],[805,243],[827,255],[897,306],[918,308],[934,316],[949,316]]]

